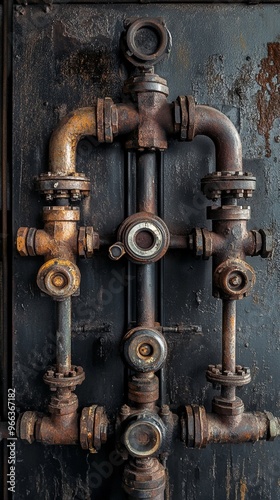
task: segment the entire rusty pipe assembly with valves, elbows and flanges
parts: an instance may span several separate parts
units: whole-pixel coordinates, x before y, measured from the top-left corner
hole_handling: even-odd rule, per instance
[[[91,183],[76,172],[76,148],[88,135],[109,144],[123,137],[126,150],[136,155],[137,207],[120,224],[108,253],[113,261],[126,257],[137,265],[136,324],[129,325],[121,345],[129,370],[127,401],[114,422],[116,448],[126,460],[123,488],[131,499],[164,499],[166,460],[177,436],[187,447],[203,448],[280,435],[279,418],[268,411],[246,412],[236,396],[236,388],[251,380],[249,368],[236,364],[236,303],[255,283],[246,257],[269,257],[272,235],[263,229],[248,230],[250,207],[238,205],[252,197],[256,179],[243,171],[240,137],[232,122],[216,109],[196,105],[191,96],[168,103],[167,82],[154,73],[154,65],[169,54],[171,44],[162,19],[125,22],[121,49],[133,74],[124,82],[124,103],[98,98],[95,106],[74,110],[59,123],[50,141],[50,170],[36,180],[48,202],[43,208],[44,229],[21,227],[17,234],[20,255],[44,258],[37,285],[55,301],[57,315],[56,363],[44,375],[52,392],[48,413],[22,413],[18,437],[44,445],[80,444],[96,453],[107,441],[109,418],[98,404],[79,409],[74,391],[85,374],[72,364],[71,302],[81,282],[77,259],[94,258],[104,239],[92,226],[79,226],[76,205],[90,196]],[[198,135],[212,139],[216,150],[216,171],[202,179],[201,188],[207,199],[220,203],[207,209],[212,231],[195,228],[178,237],[157,215],[158,156],[168,149],[169,139],[192,141]],[[166,327],[156,317],[156,268],[174,248],[195,258],[212,257],[213,295],[222,300],[222,360],[206,372],[221,392],[210,413],[196,404],[186,404],[179,415],[166,404],[158,406],[159,371],[168,345]]]

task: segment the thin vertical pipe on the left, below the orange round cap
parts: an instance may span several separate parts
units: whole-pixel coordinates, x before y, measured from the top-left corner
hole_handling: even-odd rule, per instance
[[[71,370],[71,297],[57,303],[56,369]]]

